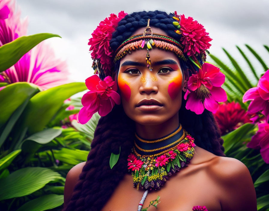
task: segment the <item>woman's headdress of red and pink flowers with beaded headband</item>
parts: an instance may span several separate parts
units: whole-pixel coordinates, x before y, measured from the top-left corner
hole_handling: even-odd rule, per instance
[[[175,26],[175,33],[180,34],[182,37],[179,40],[174,40],[172,44],[178,43],[179,50],[175,51],[175,47],[169,48],[171,45],[171,37],[163,36],[162,39],[168,39],[163,42],[162,48],[166,50],[172,49],[176,54],[185,60],[189,59],[189,70],[192,72],[192,76],[189,77],[188,87],[184,99],[187,100],[186,108],[194,111],[196,114],[201,114],[206,108],[209,111],[215,112],[218,108],[218,102],[227,100],[225,91],[220,87],[224,81],[225,76],[219,72],[219,68],[206,61],[207,49],[211,46],[209,43],[212,39],[208,36],[204,29],[204,26],[199,24],[192,17],[185,18],[184,15],[178,15],[175,11],[171,13],[173,15],[173,25]],[[92,38],[89,39],[88,45],[90,45],[91,56],[93,59],[92,68],[94,73],[98,73],[101,79],[96,75],[86,79],[86,86],[89,88],[82,98],[83,108],[79,113],[78,120],[80,123],[86,123],[92,114],[97,112],[101,116],[108,114],[113,106],[120,103],[117,86],[114,85],[112,80],[112,72],[114,68],[113,61],[116,61],[122,56],[126,55],[128,51],[135,48],[143,48],[145,43],[148,48],[152,48],[155,42],[145,36],[145,40],[141,40],[141,43],[131,44],[130,40],[135,41],[135,36],[132,36],[125,40],[120,47],[114,52],[110,47],[110,40],[112,39],[112,33],[116,30],[119,21],[127,15],[124,11],[120,11],[118,16],[110,14],[110,16],[97,26],[92,33]],[[148,26],[145,28],[146,29]],[[151,33],[153,35],[153,33]],[[162,40],[159,36],[159,40]],[[165,37],[165,38],[164,38]],[[147,38],[147,39],[146,39]],[[141,39],[141,37],[140,37]],[[170,41],[169,41],[170,39]],[[130,43],[130,47],[126,47],[126,43]],[[168,43],[168,44],[166,44]],[[180,53],[181,48],[183,54]],[[121,48],[122,47],[122,48]],[[118,52],[122,53],[122,56]],[[118,54],[116,54],[118,53]],[[185,59],[184,59],[185,58]],[[148,60],[147,60],[148,59]],[[146,58],[148,66],[150,66],[150,57],[147,54]],[[198,70],[198,71],[197,71]]]

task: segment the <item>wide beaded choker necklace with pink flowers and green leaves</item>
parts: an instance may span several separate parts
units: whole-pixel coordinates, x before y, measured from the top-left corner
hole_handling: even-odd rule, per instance
[[[194,138],[180,126],[157,140],[144,140],[135,134],[134,147],[128,156],[134,187],[157,190],[168,176],[188,166],[194,154]]]

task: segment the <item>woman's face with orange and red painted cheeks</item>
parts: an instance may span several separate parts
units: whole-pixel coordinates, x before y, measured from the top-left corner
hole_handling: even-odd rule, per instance
[[[147,49],[134,50],[120,61],[117,81],[127,116],[142,125],[157,125],[178,118],[186,81],[183,85],[183,71],[173,52],[156,47],[149,54],[152,71],[145,59]]]

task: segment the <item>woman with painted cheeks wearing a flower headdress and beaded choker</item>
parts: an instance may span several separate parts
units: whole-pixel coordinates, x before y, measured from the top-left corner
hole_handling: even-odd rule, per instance
[[[103,81],[86,79],[79,121],[103,117],[87,162],[66,177],[64,210],[141,210],[158,195],[158,210],[257,210],[248,169],[223,153],[211,111],[227,100],[224,75],[204,63],[203,26],[176,12],[122,11],[92,36]]]

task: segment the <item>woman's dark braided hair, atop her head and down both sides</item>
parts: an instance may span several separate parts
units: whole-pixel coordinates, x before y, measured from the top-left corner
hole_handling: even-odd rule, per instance
[[[171,14],[162,11],[135,12],[126,15],[120,22],[110,41],[111,48],[116,48],[138,28],[150,25],[161,28],[170,37],[178,40],[174,32]],[[117,67],[115,68],[117,71]],[[186,100],[182,94],[182,106],[179,121],[194,138],[195,144],[218,156],[224,155],[223,139],[213,114],[207,110],[200,115],[186,109]],[[95,129],[94,139],[87,162],[74,187],[71,200],[63,211],[98,211],[112,195],[114,189],[127,173],[127,157],[134,140],[134,122],[124,113],[122,105],[115,106],[105,117],[101,117]],[[110,169],[111,153],[118,154],[119,160]]]

